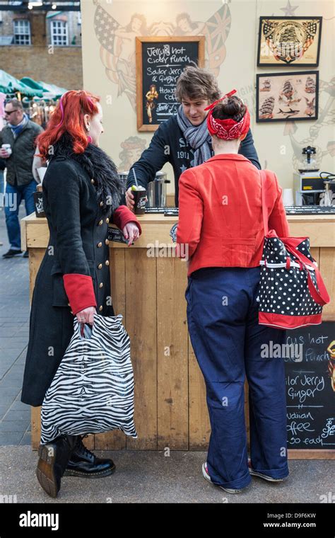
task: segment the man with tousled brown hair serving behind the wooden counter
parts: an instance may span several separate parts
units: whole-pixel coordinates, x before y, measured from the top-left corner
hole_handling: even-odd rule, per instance
[[[218,83],[210,71],[193,66],[185,67],[177,80],[176,97],[181,103],[177,114],[160,124],[148,149],[143,151],[139,161],[129,171],[126,192],[129,209],[134,207],[134,196],[131,193],[131,185],[135,185],[134,168],[139,185],[146,188],[167,162],[172,164],[175,174],[175,205],[178,207],[181,173],[213,156],[211,135],[205,121],[208,111],[204,109],[220,96]],[[254,166],[261,168],[250,129],[238,152]]]

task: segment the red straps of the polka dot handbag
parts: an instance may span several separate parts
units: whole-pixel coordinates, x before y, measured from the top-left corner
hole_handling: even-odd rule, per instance
[[[261,170],[261,212],[263,214],[263,225],[264,225],[264,236],[269,234],[269,215],[266,211],[266,202],[265,202],[265,192],[264,192],[264,185],[266,181],[266,173],[264,170]],[[281,238],[281,241],[283,241],[283,244],[286,247],[286,250],[289,251],[295,258],[298,258],[300,263],[302,264],[303,268],[307,271],[307,282],[308,282],[308,289],[310,290],[310,294],[312,296],[312,299],[317,304],[324,305],[330,302],[330,297],[327,292],[326,286],[324,285],[324,281],[322,280],[321,273],[319,272],[319,269],[317,266],[315,266],[315,276],[317,277],[317,287],[319,290],[317,290],[317,287],[315,287],[315,283],[312,280],[312,277],[310,275],[310,270],[307,267],[307,264],[312,263],[305,254],[302,254],[300,251],[296,249],[296,247],[301,243],[302,237],[287,237],[287,238]]]

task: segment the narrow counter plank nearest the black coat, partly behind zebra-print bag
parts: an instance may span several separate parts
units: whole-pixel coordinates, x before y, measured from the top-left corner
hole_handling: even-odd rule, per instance
[[[114,313],[126,319],[126,268],[124,248],[110,248],[110,287]],[[94,436],[96,450],[122,450],[126,448],[126,435],[121,430],[99,433]]]

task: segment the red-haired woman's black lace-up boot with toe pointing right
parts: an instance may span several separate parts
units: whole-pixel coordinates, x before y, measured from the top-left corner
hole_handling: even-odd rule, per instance
[[[87,437],[87,435],[83,435]],[[74,450],[67,464],[64,476],[80,476],[81,478],[98,479],[115,471],[112,459],[98,458],[83,445],[83,437],[78,435]]]

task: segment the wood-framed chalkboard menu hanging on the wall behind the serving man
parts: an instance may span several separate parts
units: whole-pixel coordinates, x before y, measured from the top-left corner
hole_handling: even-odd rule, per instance
[[[205,37],[136,38],[137,129],[155,131],[177,113],[177,79],[184,67],[204,65]]]

